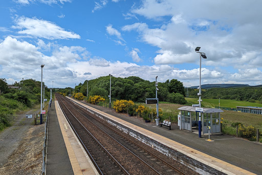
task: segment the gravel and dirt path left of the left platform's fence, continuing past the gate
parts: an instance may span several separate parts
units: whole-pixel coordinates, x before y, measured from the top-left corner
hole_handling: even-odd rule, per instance
[[[37,113],[38,106],[24,113]],[[39,111],[39,110],[38,110]],[[0,174],[41,174],[45,124],[0,132]]]

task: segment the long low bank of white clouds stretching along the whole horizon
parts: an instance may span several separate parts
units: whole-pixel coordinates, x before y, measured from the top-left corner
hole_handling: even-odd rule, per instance
[[[115,77],[139,76],[142,79],[154,81],[159,76],[159,81],[167,79],[178,79],[184,85],[195,85],[199,83],[198,69],[176,69],[170,65],[139,66],[135,63],[110,62],[101,57],[89,57],[89,51],[80,46],[52,46],[53,43],[45,43],[38,40],[37,47],[25,41],[18,41],[10,36],[0,43],[0,76],[10,79],[10,83],[24,79],[40,80],[40,65],[45,64],[43,69],[43,81],[48,85],[68,87],[74,82],[84,82],[86,78],[96,79],[99,76],[108,75],[108,72]],[[40,52],[40,49],[55,49],[50,56]],[[133,51],[140,53],[139,49]],[[198,56],[197,56],[198,57]],[[202,82],[208,83],[260,83],[262,72],[259,69],[239,69],[237,73],[208,69],[202,67]],[[73,83],[72,83],[73,82]]]

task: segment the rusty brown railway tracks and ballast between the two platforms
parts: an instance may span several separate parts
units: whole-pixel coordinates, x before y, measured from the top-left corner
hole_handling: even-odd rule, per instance
[[[179,165],[165,155],[159,155],[161,153],[152,151],[149,146],[130,135],[97,117],[94,118],[85,109],[60,94],[56,96],[63,113],[100,174],[188,173],[184,165]]]

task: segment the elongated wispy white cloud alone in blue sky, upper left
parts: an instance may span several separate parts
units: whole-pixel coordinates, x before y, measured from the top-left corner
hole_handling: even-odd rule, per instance
[[[18,33],[25,34],[23,36],[31,35],[34,37],[46,38],[48,40],[80,38],[80,36],[74,32],[65,31],[63,28],[52,22],[38,20],[37,18],[23,16],[17,18],[15,23],[16,26],[12,26],[12,28],[19,29]]]

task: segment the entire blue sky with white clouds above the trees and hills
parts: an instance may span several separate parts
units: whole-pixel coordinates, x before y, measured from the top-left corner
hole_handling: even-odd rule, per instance
[[[262,1],[5,0],[0,77],[74,87],[112,74],[150,82],[262,84]],[[260,32],[259,32],[260,31]]]

